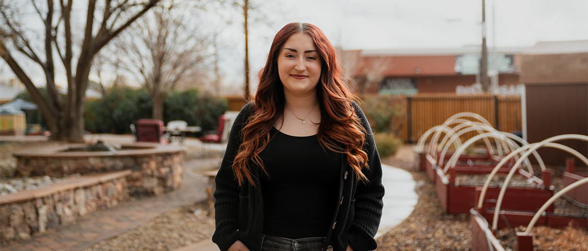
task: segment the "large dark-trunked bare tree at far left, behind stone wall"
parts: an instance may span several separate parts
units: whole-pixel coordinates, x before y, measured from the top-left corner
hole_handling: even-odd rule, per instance
[[[80,35],[81,45],[76,46],[76,31],[72,25],[79,21],[75,18],[73,0],[30,0],[31,10],[42,22],[41,34],[31,32],[31,27],[21,22],[28,11],[22,8],[24,1],[0,0],[0,56],[39,105],[52,139],[83,142],[85,93],[94,56],[159,0],[104,0],[98,5],[96,2],[91,0],[87,6],[79,7],[86,11],[86,22]],[[77,6],[75,11],[78,11]],[[42,45],[35,46],[38,41],[42,41]],[[24,57],[18,57],[16,53]],[[28,58],[41,66],[48,98],[41,96],[30,73],[25,71],[26,63],[30,61],[21,58]],[[65,101],[55,83],[55,59],[59,59],[65,68],[68,86]]]

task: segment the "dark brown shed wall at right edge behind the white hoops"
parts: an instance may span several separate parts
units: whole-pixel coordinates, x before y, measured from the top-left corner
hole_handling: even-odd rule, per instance
[[[562,134],[588,135],[588,82],[526,85],[529,143]],[[588,156],[588,142],[556,142]],[[546,165],[563,166],[572,155],[558,149],[540,149]],[[586,166],[576,159],[576,166]]]

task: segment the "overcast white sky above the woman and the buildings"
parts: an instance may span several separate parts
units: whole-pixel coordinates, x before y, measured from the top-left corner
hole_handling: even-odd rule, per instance
[[[249,24],[252,76],[263,67],[273,36],[289,22],[314,24],[333,45],[343,49],[446,48],[482,43],[482,0],[249,1],[258,5],[250,12],[252,19],[259,19],[259,12],[263,13],[262,21],[250,19]],[[220,19],[219,14],[225,18]],[[487,0],[487,45],[492,46],[493,41],[502,47],[586,40],[587,14],[587,0]],[[209,32],[218,31],[223,41],[220,66],[225,85],[242,89],[245,43],[239,9],[225,7],[202,18]],[[226,19],[232,24],[223,22]],[[2,78],[12,75],[2,60],[0,73]],[[254,86],[256,82],[252,79]]]

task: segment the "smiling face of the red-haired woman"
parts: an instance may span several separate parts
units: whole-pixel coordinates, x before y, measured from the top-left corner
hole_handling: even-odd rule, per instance
[[[321,62],[310,35],[302,32],[292,34],[278,54],[278,72],[285,94],[303,96],[316,93]]]

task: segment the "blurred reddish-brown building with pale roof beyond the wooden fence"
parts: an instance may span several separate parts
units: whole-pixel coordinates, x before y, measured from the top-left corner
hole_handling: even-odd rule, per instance
[[[520,95],[524,83],[521,81],[523,55],[540,53],[546,48],[580,53],[586,42],[539,42],[532,47],[496,48],[495,52],[489,48],[489,76],[498,73],[500,94]],[[476,84],[479,83],[480,51],[480,46],[354,50],[343,51],[342,61],[360,93],[476,93],[481,90],[481,85]]]

